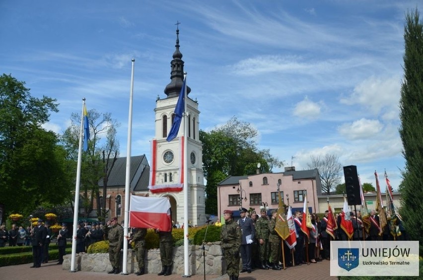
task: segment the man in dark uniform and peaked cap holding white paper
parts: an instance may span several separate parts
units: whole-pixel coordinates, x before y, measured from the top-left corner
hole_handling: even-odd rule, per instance
[[[254,228],[253,220],[247,217],[247,209],[240,208],[239,213],[241,218],[238,220],[238,224],[241,227],[242,241],[241,241],[241,258],[242,258],[242,270],[241,272],[251,273],[251,251],[252,243],[256,230]]]

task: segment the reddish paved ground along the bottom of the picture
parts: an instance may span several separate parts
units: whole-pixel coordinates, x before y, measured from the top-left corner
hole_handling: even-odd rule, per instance
[[[62,266],[56,265],[57,261],[49,262],[48,264],[42,264],[41,268],[30,268],[31,264],[17,265],[0,267],[0,279],[18,279],[18,280],[59,280],[59,279],[71,279],[71,280],[87,280],[87,279],[148,279],[148,280],[180,280],[183,279],[181,275],[171,275],[167,277],[157,276],[156,274],[146,274],[142,276],[136,276],[135,274],[129,275],[110,275],[106,273],[97,272],[75,272],[63,270]],[[330,277],[329,261],[318,262],[317,264],[302,265],[299,267],[291,267],[282,271],[274,270],[255,270],[251,274],[241,273],[239,280],[280,280],[281,278],[289,280],[326,280],[333,279],[336,277]],[[202,280],[203,275],[193,275],[190,279]],[[227,275],[206,275],[207,280],[229,280]]]

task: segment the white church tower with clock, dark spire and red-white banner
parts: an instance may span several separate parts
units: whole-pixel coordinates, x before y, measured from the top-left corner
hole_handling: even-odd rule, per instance
[[[155,137],[152,140],[152,160],[150,162],[150,186],[155,185],[160,191],[150,191],[152,197],[170,199],[172,219],[179,224],[203,225],[205,216],[205,186],[203,174],[203,144],[199,139],[200,111],[198,102],[187,96],[187,124],[181,121],[178,135],[168,142],[166,140],[174,120],[175,106],[184,82],[184,62],[179,51],[179,28],[176,29],[176,45],[173,60],[170,63],[170,83],[166,85],[166,98],[157,97],[155,112]],[[189,80],[189,76],[187,78]],[[187,94],[191,88],[187,86]],[[188,126],[187,135],[184,128]],[[183,151],[183,140],[187,140],[187,151]],[[183,164],[183,155],[188,157],[188,166]],[[188,168],[188,178],[183,178],[183,169]],[[182,176],[182,177],[181,177]],[[181,181],[188,183],[188,222],[184,221],[183,191],[174,192]]]

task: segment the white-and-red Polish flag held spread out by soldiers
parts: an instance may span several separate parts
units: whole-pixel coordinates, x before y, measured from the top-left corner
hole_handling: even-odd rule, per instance
[[[129,226],[171,231],[169,200],[167,198],[131,196]]]

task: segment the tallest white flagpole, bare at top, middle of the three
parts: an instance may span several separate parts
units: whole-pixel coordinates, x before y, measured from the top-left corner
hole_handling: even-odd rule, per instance
[[[131,180],[131,140],[132,140],[132,100],[134,96],[134,64],[135,59],[132,59],[132,73],[131,73],[131,92],[129,97],[129,117],[128,117],[128,142],[126,153],[126,179],[125,179],[125,223],[124,223],[124,251],[123,251],[123,265],[122,273],[128,275],[128,224],[129,224],[129,190]]]

